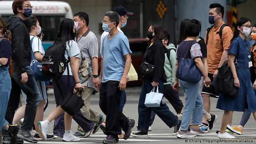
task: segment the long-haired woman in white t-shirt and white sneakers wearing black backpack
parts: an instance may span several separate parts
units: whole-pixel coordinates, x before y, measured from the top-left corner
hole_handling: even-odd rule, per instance
[[[74,25],[74,21],[72,19],[64,19],[60,24],[60,30],[57,35],[56,41],[62,39],[65,42],[65,58],[68,60],[70,58],[70,62],[68,63],[68,68],[65,69],[64,73],[59,77],[54,77],[52,79],[54,96],[56,99],[57,107],[49,114],[45,121],[38,122],[38,134],[43,139],[46,140],[46,132],[48,131],[49,123],[55,118],[60,116],[60,120],[63,118],[64,110],[61,108],[61,104],[65,98],[65,95],[68,92],[73,92],[73,88],[76,90],[82,90],[82,84],[79,81],[78,77],[78,68],[80,63],[80,48],[78,43],[74,41],[75,39],[76,28]],[[69,74],[68,74],[69,70]],[[69,82],[69,83],[68,83]],[[87,120],[83,117],[83,115],[78,112],[74,115],[73,119],[78,122],[80,126],[82,126],[85,132],[93,129],[95,127],[95,123]],[[65,125],[65,133],[63,135],[64,141],[79,141],[80,138],[76,137],[71,132],[71,122],[72,116],[67,112],[64,114],[64,125]],[[60,126],[61,127],[61,126]]]

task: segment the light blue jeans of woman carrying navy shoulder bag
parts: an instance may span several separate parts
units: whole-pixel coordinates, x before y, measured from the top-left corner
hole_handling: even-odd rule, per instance
[[[179,80],[179,83],[186,94],[180,130],[187,130],[192,114],[192,125],[199,125],[202,123],[203,99],[199,92],[199,82],[188,83]]]

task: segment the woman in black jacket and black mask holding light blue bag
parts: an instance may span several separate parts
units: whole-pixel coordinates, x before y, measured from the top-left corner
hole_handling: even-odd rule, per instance
[[[163,27],[160,24],[151,24],[148,27],[148,38],[150,40],[146,53],[144,54],[143,62],[154,65],[154,74],[153,77],[143,77],[138,106],[138,131],[131,134],[133,137],[147,136],[151,110],[153,110],[169,128],[174,127],[174,129],[178,130],[180,127],[180,121],[169,110],[169,107],[165,103],[161,102],[159,107],[146,107],[144,105],[146,94],[149,93],[153,87],[158,87],[159,93],[163,93],[163,83],[166,83],[164,62],[167,49],[162,43],[162,39],[164,38]]]

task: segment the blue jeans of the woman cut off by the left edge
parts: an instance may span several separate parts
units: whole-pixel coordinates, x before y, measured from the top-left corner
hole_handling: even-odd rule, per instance
[[[0,66],[0,131],[2,131],[3,127],[8,124],[8,122],[4,119],[12,88],[8,68],[9,67]]]

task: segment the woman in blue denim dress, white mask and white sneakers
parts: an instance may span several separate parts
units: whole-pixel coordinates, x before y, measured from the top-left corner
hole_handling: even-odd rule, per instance
[[[256,113],[256,95],[252,87],[249,71],[249,67],[252,66],[250,61],[251,45],[245,40],[251,33],[251,29],[252,26],[249,19],[240,18],[237,21],[229,50],[229,64],[234,77],[234,86],[239,87],[239,91],[237,98],[229,98],[223,94],[219,95],[217,108],[224,110],[221,130],[218,133],[219,138],[235,138],[225,132],[227,124],[232,121],[233,111],[245,111],[245,109],[248,109],[253,114]],[[235,66],[234,61],[237,61],[237,66]]]

